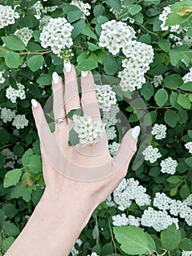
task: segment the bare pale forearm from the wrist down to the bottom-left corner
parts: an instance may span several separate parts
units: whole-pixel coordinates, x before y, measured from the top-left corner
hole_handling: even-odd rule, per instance
[[[88,201],[74,200],[67,193],[54,200],[45,193],[5,256],[69,255],[93,212]]]

